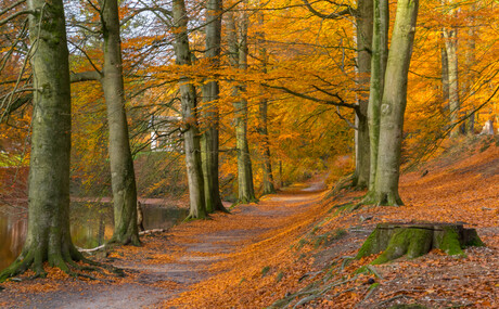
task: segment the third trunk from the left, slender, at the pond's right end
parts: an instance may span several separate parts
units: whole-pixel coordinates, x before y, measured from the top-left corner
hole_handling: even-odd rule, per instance
[[[175,55],[178,65],[191,65],[189,49],[188,17],[183,0],[174,0]],[[194,85],[188,77],[179,80],[180,102],[183,118],[183,145],[189,182],[189,219],[203,219],[205,207],[203,167],[201,160],[200,129],[197,125],[197,102]]]

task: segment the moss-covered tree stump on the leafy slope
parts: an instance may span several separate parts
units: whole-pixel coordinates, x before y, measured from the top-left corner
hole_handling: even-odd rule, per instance
[[[455,223],[380,223],[363,243],[356,258],[383,252],[372,263],[384,263],[404,255],[415,258],[432,248],[464,256],[462,248],[484,246],[475,229]]]

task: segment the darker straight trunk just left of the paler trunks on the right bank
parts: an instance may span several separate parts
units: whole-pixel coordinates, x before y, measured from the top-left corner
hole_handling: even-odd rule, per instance
[[[357,189],[364,189],[369,184],[369,126],[368,126],[368,104],[369,98],[364,88],[369,82],[371,72],[371,46],[372,46],[372,20],[373,5],[371,0],[360,0],[357,7],[357,87],[359,110],[357,113],[357,164],[355,170],[354,185]]]

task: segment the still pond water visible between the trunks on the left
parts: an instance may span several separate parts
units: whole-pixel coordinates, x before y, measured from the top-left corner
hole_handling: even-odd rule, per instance
[[[187,216],[189,210],[177,207],[142,205],[144,229],[168,229]],[[3,210],[3,211],[2,211]],[[7,268],[21,253],[27,233],[27,215],[0,208],[0,270]],[[113,234],[113,207],[110,203],[72,203],[71,233],[81,248],[103,244]]]

